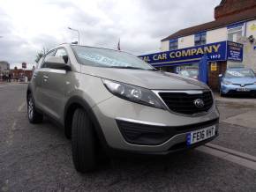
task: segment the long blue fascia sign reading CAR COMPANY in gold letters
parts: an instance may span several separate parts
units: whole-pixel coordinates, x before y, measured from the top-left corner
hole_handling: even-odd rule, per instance
[[[140,55],[139,58],[155,67],[160,67],[184,63],[199,63],[203,55],[207,55],[207,61],[224,61],[227,58],[226,51],[227,41],[221,41],[192,48]]]

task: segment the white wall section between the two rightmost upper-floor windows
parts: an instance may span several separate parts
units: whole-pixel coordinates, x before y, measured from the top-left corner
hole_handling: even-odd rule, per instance
[[[207,44],[219,41],[227,41],[228,39],[228,30],[227,27],[222,27],[219,29],[214,29],[207,31]]]

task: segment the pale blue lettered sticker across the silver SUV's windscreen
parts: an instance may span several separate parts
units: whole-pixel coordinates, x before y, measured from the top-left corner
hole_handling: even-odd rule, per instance
[[[122,67],[128,67],[131,66],[128,63],[117,61],[116,59],[111,59],[107,56],[103,55],[97,55],[97,54],[78,54],[80,58],[86,59],[88,61],[94,62],[94,63],[101,63],[106,66],[122,66]]]

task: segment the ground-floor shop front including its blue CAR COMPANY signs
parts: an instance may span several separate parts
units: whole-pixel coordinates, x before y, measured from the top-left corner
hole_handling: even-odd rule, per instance
[[[206,61],[199,64],[205,57]],[[202,67],[207,70],[207,83],[211,88],[218,89],[218,75],[227,68],[227,61],[243,62],[243,45],[220,41],[191,48],[182,48],[149,55],[139,55],[139,58],[157,69],[177,73],[190,78],[199,78]],[[240,64],[241,65],[241,64]]]

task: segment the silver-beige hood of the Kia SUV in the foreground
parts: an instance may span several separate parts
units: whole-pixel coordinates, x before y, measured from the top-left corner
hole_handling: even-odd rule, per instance
[[[147,89],[192,90],[208,88],[207,85],[192,78],[182,78],[176,74],[162,71],[101,68],[83,65],[81,66],[81,72]]]

